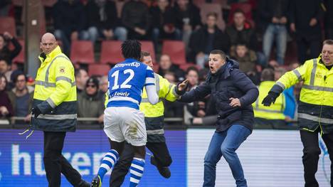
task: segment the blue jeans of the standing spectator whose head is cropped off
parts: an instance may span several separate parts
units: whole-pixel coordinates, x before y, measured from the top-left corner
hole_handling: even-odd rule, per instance
[[[270,59],[270,50],[276,42],[276,60],[280,65],[285,63],[285,50],[287,49],[287,28],[285,25],[270,23],[263,36],[263,53]]]

